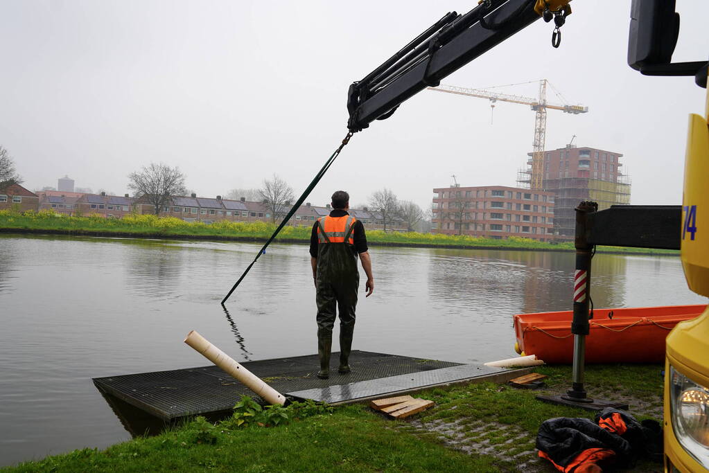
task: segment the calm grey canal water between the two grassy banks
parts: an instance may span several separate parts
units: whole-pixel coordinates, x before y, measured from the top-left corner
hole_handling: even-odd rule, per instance
[[[91,377],[206,365],[182,343],[191,329],[236,360],[316,353],[305,245],[269,247],[220,306],[258,249],[0,236],[0,466],[128,440]],[[515,355],[513,314],[570,309],[570,252],[370,253],[376,287],[359,300],[354,349],[484,363]],[[598,254],[591,295],[596,307],[706,302],[671,256]]]

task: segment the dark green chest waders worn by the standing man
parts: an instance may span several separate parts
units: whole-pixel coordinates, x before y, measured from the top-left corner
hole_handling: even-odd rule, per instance
[[[333,326],[336,308],[340,312],[340,373],[350,372],[349,358],[354,333],[354,309],[357,307],[359,272],[357,271],[357,251],[347,243],[354,224],[345,234],[344,243],[333,243],[318,221],[320,241],[318,243],[318,267],[316,273],[316,304],[318,306],[318,357],[320,371],[318,377],[326,380],[330,376],[330,351],[333,346]],[[337,235],[340,236],[340,235]]]

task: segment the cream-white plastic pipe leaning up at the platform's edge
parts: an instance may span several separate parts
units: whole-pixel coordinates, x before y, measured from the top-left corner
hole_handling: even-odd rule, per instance
[[[184,339],[184,343],[187,343],[187,345],[199,351],[204,358],[211,361],[225,372],[228,372],[228,374],[235,377],[239,382],[245,384],[247,388],[265,399],[269,404],[281,404],[281,406],[285,404],[286,398],[283,394],[277,392],[257,375],[237,363],[216,346],[213,346],[196,331],[190,331]]]

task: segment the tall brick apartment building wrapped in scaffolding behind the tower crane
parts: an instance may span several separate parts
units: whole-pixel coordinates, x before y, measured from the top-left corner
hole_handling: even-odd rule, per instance
[[[527,169],[518,172],[520,187],[532,181],[532,153]],[[574,238],[574,209],[583,200],[598,203],[598,210],[630,204],[630,178],[622,171],[623,154],[567,144],[544,152],[542,189],[554,193],[554,234]]]

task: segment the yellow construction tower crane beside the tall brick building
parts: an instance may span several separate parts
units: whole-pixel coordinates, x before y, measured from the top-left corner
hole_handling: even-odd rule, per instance
[[[445,85],[440,85],[437,87],[428,87],[428,89],[437,92],[456,93],[457,95],[461,96],[487,98],[489,101],[491,101],[491,106],[494,106],[493,104],[496,101],[501,101],[510,103],[520,103],[522,105],[528,105],[532,107],[532,110],[535,111],[535,123],[533,145],[534,153],[532,154],[532,175],[530,176],[530,187],[532,189],[541,189],[543,176],[542,168],[544,164],[544,146],[545,137],[547,134],[547,108],[551,110],[562,110],[562,112],[564,113],[573,113],[574,115],[588,112],[588,107],[580,105],[569,105],[566,103],[548,103],[547,84],[549,84],[549,81],[547,81],[547,79],[542,79],[539,81],[538,98],[515,96],[510,95],[508,93],[491,92],[489,90],[484,89],[467,89],[465,87]]]

